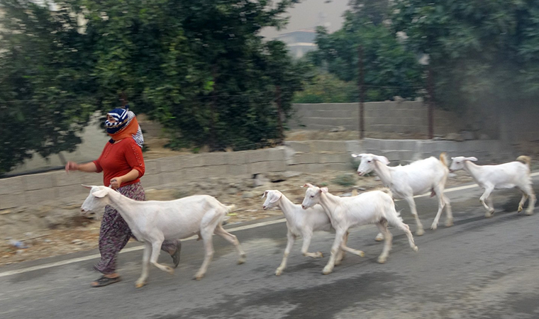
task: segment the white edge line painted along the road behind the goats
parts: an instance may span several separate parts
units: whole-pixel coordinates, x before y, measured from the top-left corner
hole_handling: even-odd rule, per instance
[[[539,176],[539,172],[532,173],[531,176],[532,177]],[[477,184],[472,184],[472,185],[466,185],[466,186],[457,186],[457,187],[453,187],[451,189],[445,189],[445,193],[450,193],[452,191],[462,191],[463,189],[473,189],[475,187],[478,187],[478,185]],[[424,196],[430,196],[430,193],[423,194],[423,195],[418,195],[418,196],[413,196],[413,197],[418,198],[418,197],[424,197]],[[251,229],[251,228],[263,227],[263,226],[267,226],[267,225],[284,223],[286,221],[287,220],[285,218],[282,218],[282,219],[270,220],[270,221],[266,221],[266,222],[262,222],[262,223],[255,223],[255,224],[252,224],[252,225],[245,225],[245,226],[239,226],[239,227],[235,227],[235,228],[228,228],[226,231],[228,231],[229,233],[234,233],[234,232],[237,232],[237,231],[240,231],[240,230],[246,230],[246,229]],[[197,238],[197,236],[193,236],[193,237],[186,238],[186,239],[184,239],[182,241],[194,240],[196,238]],[[120,254],[123,254],[124,252],[135,252],[137,250],[143,250],[143,248],[144,248],[144,246],[136,246],[136,247],[126,248],[126,249],[122,250],[120,252]],[[10,270],[9,272],[0,272],[0,278],[1,277],[6,277],[6,276],[12,276],[12,275],[15,275],[15,274],[24,274],[25,272],[33,272],[35,270],[40,270],[40,269],[47,269],[47,268],[51,268],[51,267],[63,266],[65,264],[74,264],[75,262],[84,262],[84,261],[87,261],[87,260],[90,260],[90,259],[99,258],[100,256],[101,256],[100,254],[91,254],[89,256],[62,260],[60,262],[51,262],[50,264],[40,264],[38,266],[27,267],[27,268],[23,268],[23,269]]]

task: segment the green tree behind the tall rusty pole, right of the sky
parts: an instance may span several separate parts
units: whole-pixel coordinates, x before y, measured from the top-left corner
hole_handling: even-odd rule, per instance
[[[335,74],[340,80],[357,83],[358,48],[362,47],[367,101],[418,96],[423,86],[423,70],[416,55],[406,51],[394,33],[379,23],[384,12],[382,9],[372,10],[378,13],[371,14],[365,6],[371,1],[352,3],[355,3],[357,11],[345,13],[343,28],[331,34],[325,28],[318,28],[318,50],[309,55],[313,64]],[[378,24],[369,20],[371,16]]]

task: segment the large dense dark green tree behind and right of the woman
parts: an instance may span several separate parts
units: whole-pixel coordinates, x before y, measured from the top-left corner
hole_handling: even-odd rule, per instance
[[[284,81],[286,115],[301,82],[286,47],[259,33],[282,26],[296,0],[149,2],[81,2],[104,101],[126,91],[170,131],[172,147],[245,149],[277,138],[276,84]]]

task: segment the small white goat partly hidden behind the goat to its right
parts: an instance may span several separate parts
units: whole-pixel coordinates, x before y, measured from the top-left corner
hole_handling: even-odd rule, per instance
[[[312,208],[307,208],[304,210],[300,205],[292,203],[287,196],[284,196],[280,191],[269,190],[265,191],[262,198],[267,196],[266,201],[262,205],[262,209],[267,210],[274,207],[279,207],[279,209],[284,214],[284,217],[287,218],[287,248],[284,250],[284,255],[282,257],[282,262],[277,267],[275,275],[279,276],[282,274],[282,271],[287,267],[287,259],[292,250],[292,245],[294,245],[294,240],[297,236],[303,237],[303,245],[301,246],[301,253],[306,257],[312,258],[321,258],[323,254],[321,252],[307,252],[309,250],[309,245],[311,244],[311,237],[313,236],[313,231],[324,230],[330,231],[333,230],[331,227],[331,221],[324,211],[323,207],[320,205],[314,206]],[[348,232],[345,235],[345,244],[348,240]],[[339,251],[339,255],[335,264],[340,264],[341,260],[344,257],[344,252]]]

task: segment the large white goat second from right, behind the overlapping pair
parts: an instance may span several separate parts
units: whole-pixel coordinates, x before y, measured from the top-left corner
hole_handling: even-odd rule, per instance
[[[357,167],[357,174],[360,176],[369,172],[374,172],[380,177],[382,184],[391,189],[396,199],[404,199],[410,206],[411,213],[416,218],[416,235],[423,235],[423,225],[419,220],[416,202],[413,201],[414,195],[424,194],[430,191],[430,197],[438,196],[438,213],[434,218],[430,229],[438,228],[438,220],[445,206],[445,212],[448,214],[448,220],[445,225],[453,225],[453,215],[449,198],[443,194],[445,181],[448,179],[449,169],[448,160],[445,153],[440,154],[440,159],[429,157],[421,159],[405,166],[389,167],[389,159],[384,156],[373,154],[352,154],[352,157],[361,157],[360,166]],[[377,240],[382,240],[382,235],[377,235]]]

